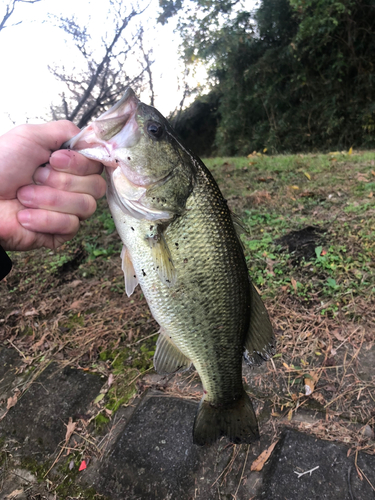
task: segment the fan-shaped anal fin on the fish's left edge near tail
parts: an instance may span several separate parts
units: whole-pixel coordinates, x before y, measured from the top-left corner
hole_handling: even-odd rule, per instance
[[[154,368],[160,374],[176,373],[191,366],[189,358],[182,354],[171,337],[160,330],[154,355]]]

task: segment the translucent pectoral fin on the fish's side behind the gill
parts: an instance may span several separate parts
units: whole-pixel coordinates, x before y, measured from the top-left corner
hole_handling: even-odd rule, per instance
[[[147,235],[147,240],[151,248],[155,270],[160,280],[168,287],[173,286],[176,282],[176,269],[162,228],[158,225],[150,226],[150,233]]]

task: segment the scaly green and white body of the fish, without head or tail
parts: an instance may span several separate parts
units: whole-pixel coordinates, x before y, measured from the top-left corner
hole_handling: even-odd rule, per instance
[[[207,391],[206,400],[215,403],[233,401],[242,393],[249,281],[227,204],[209,172],[201,168],[186,214],[165,232],[177,270],[172,294],[161,283],[143,237],[150,223],[135,223],[120,214],[119,219],[135,230],[124,231],[124,224],[119,224],[118,231],[130,254],[142,255],[132,261],[154,318],[192,360]],[[238,361],[233,363],[234,359]]]

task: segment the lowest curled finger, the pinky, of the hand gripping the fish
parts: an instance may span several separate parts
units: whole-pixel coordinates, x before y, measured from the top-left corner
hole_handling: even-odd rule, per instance
[[[79,229],[77,216],[52,212],[51,210],[20,210],[17,219],[22,227],[35,233],[73,237]]]

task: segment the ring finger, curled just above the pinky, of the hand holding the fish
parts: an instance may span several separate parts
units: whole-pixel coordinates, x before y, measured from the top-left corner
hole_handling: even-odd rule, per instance
[[[91,195],[69,193],[49,186],[29,184],[17,191],[17,198],[27,208],[76,215],[81,220],[87,219],[96,210],[96,201]]]

